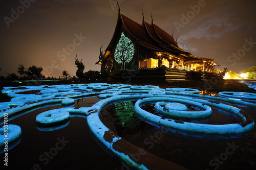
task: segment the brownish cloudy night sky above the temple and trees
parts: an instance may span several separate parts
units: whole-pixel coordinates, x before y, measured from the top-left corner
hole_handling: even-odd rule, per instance
[[[100,70],[95,63],[100,46],[104,51],[114,34],[116,1],[1,0],[0,4],[1,76],[16,72],[19,64],[42,66],[45,76],[61,76],[63,70],[75,76],[76,54],[84,71]],[[152,13],[156,25],[174,32],[180,47],[215,59],[220,64],[216,68],[239,73],[256,66],[255,0],[120,0],[119,5],[138,23],[142,9],[147,22],[151,23]]]

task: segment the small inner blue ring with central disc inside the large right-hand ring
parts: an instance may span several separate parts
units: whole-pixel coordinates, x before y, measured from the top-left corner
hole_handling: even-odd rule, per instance
[[[155,104],[156,111],[166,116],[205,118],[211,115],[211,108],[199,102],[193,102],[193,101],[181,100],[181,99],[175,99],[175,98],[174,99],[166,98],[164,101],[179,102],[179,103],[157,102]],[[196,106],[202,109],[203,111],[187,111],[187,107],[183,104]]]

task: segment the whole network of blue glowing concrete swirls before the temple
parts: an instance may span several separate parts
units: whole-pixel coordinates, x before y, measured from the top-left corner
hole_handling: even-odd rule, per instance
[[[0,103],[0,118],[4,117],[4,113],[8,113],[9,119],[11,120],[19,116],[16,115],[17,112],[34,108],[38,109],[44,105],[61,105],[62,108],[60,109],[49,110],[36,116],[35,122],[39,130],[51,131],[68,126],[71,116],[87,118],[90,131],[101,147],[119,161],[129,163],[137,169],[157,169],[158,166],[163,165],[179,169],[185,168],[146,151],[143,158],[139,161],[134,161],[130,155],[133,151],[138,151],[139,148],[115,134],[101,122],[99,114],[106,106],[119,101],[136,100],[134,110],[137,116],[157,128],[165,127],[167,129],[178,129],[201,134],[224,135],[248,132],[254,127],[254,122],[247,113],[225,103],[256,108],[256,104],[243,101],[247,100],[248,97],[255,98],[256,94],[254,93],[220,92],[219,95],[225,97],[222,98],[200,95],[197,89],[161,89],[158,86],[149,85],[132,86],[92,83],[23,86],[5,87],[2,92],[8,93],[8,96],[12,97],[12,100],[10,102]],[[33,94],[33,92],[36,94]],[[229,95],[232,96],[231,99],[229,99]],[[75,99],[83,99],[90,96],[98,96],[100,101],[91,107],[74,108],[72,106]],[[233,100],[237,96],[239,96],[240,100]],[[142,109],[142,106],[148,103],[155,105],[156,113]],[[196,111],[189,110],[188,106],[196,108]],[[183,118],[200,119],[209,117],[212,115],[211,107],[218,108],[218,110],[225,110],[230,114],[236,114],[242,119],[242,122],[226,125],[208,125],[182,120]],[[21,130],[17,130],[17,132],[21,132]],[[158,163],[154,164],[150,161],[151,159],[156,160],[155,162]]]

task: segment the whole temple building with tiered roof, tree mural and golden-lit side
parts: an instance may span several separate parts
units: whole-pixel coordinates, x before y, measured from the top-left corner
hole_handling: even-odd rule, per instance
[[[191,78],[191,72],[202,75],[203,71],[214,71],[217,65],[213,59],[185,52],[153,19],[150,24],[143,16],[140,25],[123,15],[120,8],[113,38],[105,52],[100,52],[96,64],[101,64],[101,74],[109,77],[120,77],[121,73],[136,69],[137,78],[164,79]]]

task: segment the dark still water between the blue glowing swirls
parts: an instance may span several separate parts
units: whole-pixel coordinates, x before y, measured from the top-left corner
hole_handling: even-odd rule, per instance
[[[10,101],[10,98],[1,94],[1,102],[5,101]],[[91,107],[98,101],[97,96],[79,99],[74,107]],[[256,169],[256,128],[238,135],[198,134],[174,129],[162,131],[135,115],[135,102],[119,101],[106,106],[99,115],[102,123],[139,148],[189,169]],[[142,108],[158,115],[154,105],[150,103]],[[193,106],[187,107],[189,111],[198,110]],[[236,107],[256,120],[254,109]],[[59,130],[38,130],[36,115],[57,108],[61,108],[60,103],[41,106],[20,112],[17,118],[9,121],[9,124],[22,128],[22,138],[16,147],[8,151],[8,169],[129,169],[98,145],[86,117],[71,117],[69,124]],[[212,115],[208,118],[182,120],[215,125],[242,122],[240,117],[215,107],[212,107]],[[3,158],[4,154],[0,156]],[[0,167],[5,167],[3,162]]]

